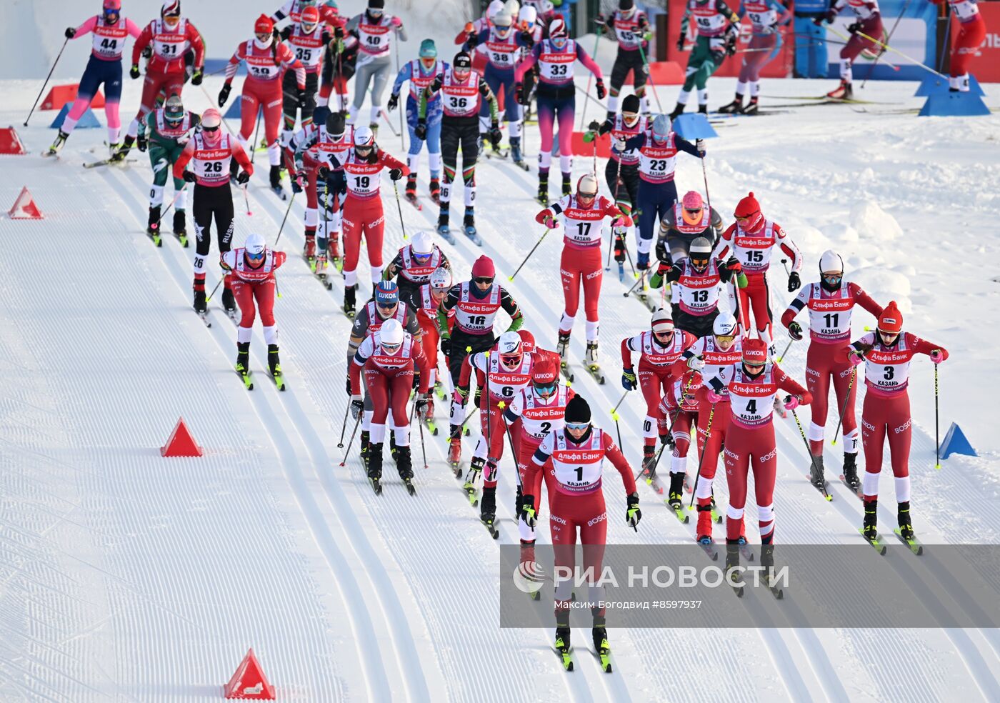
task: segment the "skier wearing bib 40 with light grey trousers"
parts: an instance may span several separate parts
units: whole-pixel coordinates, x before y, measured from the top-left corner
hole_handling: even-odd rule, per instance
[[[354,104],[351,106],[348,124],[354,124],[361,114],[365,93],[371,86],[372,104],[369,111],[369,127],[378,129],[378,116],[382,108],[382,91],[389,81],[392,70],[393,35],[406,41],[406,30],[399,17],[385,13],[385,0],[368,0],[368,7],[360,15],[347,23],[347,31],[358,39],[358,59],[354,72]]]

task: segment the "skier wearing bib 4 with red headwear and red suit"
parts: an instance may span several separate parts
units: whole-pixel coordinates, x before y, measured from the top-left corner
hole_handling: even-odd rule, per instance
[[[727,374],[727,376],[729,376]],[[743,506],[747,499],[747,474],[753,470],[760,541],[760,562],[774,565],[774,480],[778,453],[774,442],[774,406],[779,390],[788,392],[784,406],[794,410],[812,402],[809,392],[778,365],[768,361],[767,345],[760,339],[744,339],[741,362],[728,378],[708,379],[708,402],[715,405],[729,390],[730,420],[726,430],[726,480],[729,507],[726,510],[726,569],[739,565],[738,545],[746,544]],[[711,412],[711,410],[709,411]],[[712,431],[715,429],[713,427]]]

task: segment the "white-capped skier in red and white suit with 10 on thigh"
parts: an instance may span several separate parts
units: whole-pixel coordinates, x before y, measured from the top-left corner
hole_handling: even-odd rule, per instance
[[[653,313],[650,329],[622,340],[622,387],[626,391],[641,388],[646,401],[646,419],[642,423],[642,463],[646,472],[653,468],[657,434],[662,444],[670,441],[666,418],[660,412],[660,396],[671,392],[674,364],[694,342],[694,335],[675,328],[670,313],[662,308]],[[640,355],[638,375],[632,366],[632,352]]]

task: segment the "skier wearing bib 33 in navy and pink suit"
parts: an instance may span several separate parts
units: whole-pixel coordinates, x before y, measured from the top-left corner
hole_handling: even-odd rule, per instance
[[[539,80],[535,92],[538,104],[538,130],[542,136],[538,153],[538,200],[549,202],[549,167],[552,164],[552,138],[556,120],[559,121],[559,170],[562,172],[562,194],[573,192],[570,180],[573,170],[573,120],[576,110],[576,86],[573,67],[579,61],[597,78],[597,99],[603,100],[607,91],[600,67],[575,40],[569,38],[566,23],[561,17],[549,24],[549,36],[535,44],[531,53],[517,66],[514,74],[514,93],[522,105],[528,104],[529,95],[524,90],[524,77],[538,65]]]

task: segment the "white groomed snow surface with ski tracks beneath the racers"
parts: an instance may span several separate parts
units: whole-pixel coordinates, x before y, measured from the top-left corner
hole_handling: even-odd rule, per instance
[[[69,5],[35,3],[50,4]],[[253,13],[257,5],[243,4]],[[441,5],[456,15],[465,7]],[[38,13],[46,14],[55,13]],[[60,17],[56,25],[63,24]],[[449,35],[453,25],[439,31]],[[411,40],[407,48],[415,46]],[[62,64],[63,75],[76,76],[81,61]],[[139,85],[126,82],[129,110]],[[430,467],[417,469],[415,499],[392,478],[384,495],[374,496],[356,458],[339,466],[349,330],[337,311],[340,281],[327,292],[301,259],[290,259],[276,305],[289,390],[278,393],[265,378],[258,327],[251,363],[259,378],[247,394],[232,372],[232,324],[214,301],[211,329],[190,311],[193,249],[169,236],[156,249],[143,234],[145,157],[137,154],[139,161],[122,170],[81,169],[104,153],[105,131],[95,129],[76,132],[61,159],[39,158],[54,136],[47,128],[54,113],[20,127],[39,86],[0,84],[0,124],[18,125],[30,151],[0,157],[0,204],[6,208],[27,185],[46,216],[0,218],[2,700],[218,700],[250,646],[281,700],[1000,700],[995,630],[612,630],[612,675],[582,656],[589,631],[578,630],[578,671],[565,674],[551,654],[550,631],[497,628],[496,543],[448,470],[441,438],[428,437]],[[206,80],[209,95],[218,87],[217,78]],[[728,100],[732,88],[732,80],[713,80],[713,104]],[[828,88],[826,81],[774,80],[762,92],[817,95]],[[928,543],[996,543],[1000,439],[992,369],[1000,312],[991,262],[1000,254],[1000,119],[874,112],[919,106],[908,97],[914,89],[870,82],[860,97],[894,104],[867,106],[867,114],[804,107],[733,120],[709,143],[708,184],[724,214],[753,190],[802,248],[805,281],[814,277],[819,254],[834,247],[850,278],[876,300],[900,303],[907,329],[951,350],[940,368],[942,436],[959,422],[980,457],[954,456],[934,469],[932,368],[918,359],[910,391],[915,525]],[[997,89],[986,86],[988,94]],[[660,90],[664,107],[675,95],[676,88]],[[185,99],[194,109],[208,106],[190,87]],[[380,141],[400,153],[384,127]],[[533,127],[528,148],[537,154]],[[591,165],[577,158],[574,171]],[[700,164],[684,155],[677,179],[682,192],[704,187]],[[486,245],[459,236],[444,249],[459,274],[483,251],[501,274],[512,273],[540,235],[535,175],[485,160],[477,181]],[[407,232],[432,228],[436,210],[424,200],[420,213],[403,204]],[[403,240],[389,188],[384,201],[391,252]],[[273,241],[286,206],[266,178],[251,184],[252,217],[241,204],[236,242],[251,230]],[[282,236],[289,252],[303,244],[303,205],[293,203]],[[512,285],[528,328],[548,346],[562,306],[558,249],[549,238]],[[772,276],[776,313],[792,297],[784,279],[780,270]],[[609,383],[575,384],[605,424],[601,409],[621,393],[618,341],[641,329],[648,314],[619,294],[624,290],[606,277],[601,340]],[[871,322],[860,313],[855,335]],[[578,328],[571,348],[577,359],[582,338]],[[793,345],[783,364],[800,379],[804,354],[804,345]],[[625,452],[637,462],[644,415],[638,394],[621,414]],[[179,415],[205,457],[159,457]],[[831,413],[828,433],[835,422]],[[839,484],[832,503],[819,499],[802,478],[808,458],[794,423],[777,427],[777,539],[857,543],[860,503]],[[466,452],[471,448],[467,443]],[[839,465],[839,449],[827,453],[827,462]],[[498,495],[504,543],[517,541],[510,471],[505,460]],[[895,519],[887,473],[888,466],[883,525]],[[606,489],[612,516],[624,506],[616,485],[610,480]],[[715,485],[724,504],[721,476]],[[693,539],[693,526],[681,525],[647,487],[640,495],[639,532],[615,518],[609,542]],[[547,529],[539,536],[546,541]],[[841,596],[891,594],[859,586]]]

